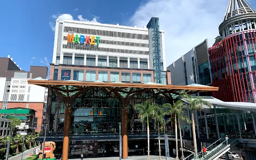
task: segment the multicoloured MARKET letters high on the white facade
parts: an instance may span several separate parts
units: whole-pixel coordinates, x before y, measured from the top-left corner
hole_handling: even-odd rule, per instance
[[[84,35],[75,35],[68,34],[67,42],[71,44],[79,44],[79,45],[91,45],[91,46],[99,46],[100,37],[98,36],[84,36]]]

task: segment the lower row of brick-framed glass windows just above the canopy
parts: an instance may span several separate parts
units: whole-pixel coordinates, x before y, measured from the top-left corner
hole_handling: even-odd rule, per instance
[[[99,71],[98,79],[96,79],[96,71],[86,71],[86,81],[95,82],[96,80],[102,82],[108,82],[108,72],[107,71]],[[70,80],[71,70],[61,70],[61,80]],[[110,82],[119,82],[119,73],[110,72]],[[122,73],[122,82],[130,83],[131,82],[131,74],[130,73]],[[58,78],[58,69],[54,70],[54,80]],[[84,79],[84,71],[83,70],[74,70],[73,80],[75,81],[83,81]],[[143,74],[143,83],[151,82],[151,74]],[[141,74],[134,73],[132,74],[132,83],[141,83]]]

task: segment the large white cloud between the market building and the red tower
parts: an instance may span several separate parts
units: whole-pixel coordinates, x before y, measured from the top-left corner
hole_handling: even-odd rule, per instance
[[[227,4],[223,0],[150,0],[135,11],[130,23],[143,27],[151,17],[159,18],[169,66],[204,39],[219,35]]]

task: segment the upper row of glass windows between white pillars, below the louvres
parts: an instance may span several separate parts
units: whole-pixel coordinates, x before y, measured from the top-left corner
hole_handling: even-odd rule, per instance
[[[56,65],[59,65],[60,57],[57,57]],[[72,57],[63,57],[64,65],[72,65]],[[84,66],[83,57],[75,57],[74,65]],[[86,58],[86,66],[96,66],[95,58]],[[107,59],[98,59],[99,67],[107,67]],[[117,60],[109,59],[108,67],[117,67]],[[127,60],[119,60],[120,68],[128,68]],[[138,61],[130,61],[130,68],[138,68]],[[140,69],[148,69],[148,62],[140,62]]]

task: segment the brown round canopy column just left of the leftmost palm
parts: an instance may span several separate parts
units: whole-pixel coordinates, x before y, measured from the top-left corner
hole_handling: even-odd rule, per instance
[[[123,159],[128,158],[127,108],[122,108]]]

